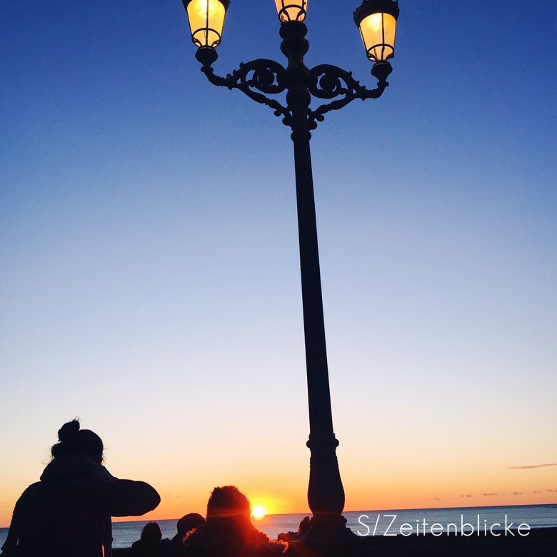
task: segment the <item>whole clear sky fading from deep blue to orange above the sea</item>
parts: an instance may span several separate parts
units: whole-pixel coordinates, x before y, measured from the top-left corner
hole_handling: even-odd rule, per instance
[[[357,2],[308,66],[373,86]],[[557,502],[557,5],[401,0],[391,86],[313,133],[346,510]],[[3,1],[0,526],[65,421],[152,483],[305,512],[293,153],[179,0]],[[216,71],[278,50],[231,1]],[[551,465],[551,466],[549,466]]]

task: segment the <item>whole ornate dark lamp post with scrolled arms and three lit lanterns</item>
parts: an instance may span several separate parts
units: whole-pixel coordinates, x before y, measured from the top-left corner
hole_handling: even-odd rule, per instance
[[[215,75],[211,65],[218,57],[216,46],[221,44],[230,0],[183,2],[189,16],[191,39],[198,47],[196,59],[201,62],[201,71],[207,79],[214,85],[239,89],[254,101],[270,106],[276,116],[282,117],[283,124],[292,129],[308,379],[310,434],[307,446],[311,451],[308,503],[313,518],[306,540],[349,538],[353,534],[346,528],[346,518],[342,516],[344,490],[331,415],[309,140],[311,130],[323,121],[324,114],[341,109],[354,99],[377,99],[388,86],[386,79],[392,71],[388,59],[394,55],[398,1],[363,0],[353,14],[368,59],[374,62],[371,74],[378,79],[378,84],[371,90],[353,79],[351,72],[336,66],[322,64],[308,69],[303,63],[309,48],[307,28],[303,24],[307,0],[275,0],[281,21],[281,51],[288,59],[286,69],[276,61],[258,59],[240,64],[239,69],[226,77]],[[266,96],[283,91],[286,91],[286,106]],[[312,97],[331,102],[311,109]]]

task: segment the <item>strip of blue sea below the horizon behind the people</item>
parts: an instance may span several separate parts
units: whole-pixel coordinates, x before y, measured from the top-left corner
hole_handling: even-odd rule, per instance
[[[557,527],[557,504],[501,507],[413,508],[343,513],[346,526],[358,536],[421,536],[426,533],[458,536],[504,536],[513,531],[528,535],[531,528]],[[271,514],[253,519],[254,526],[276,539],[281,532],[295,532],[305,514]],[[176,535],[176,521],[157,521],[164,538]],[[139,540],[148,521],[115,522],[113,547],[125,548]],[[520,529],[518,529],[520,528]],[[0,547],[8,528],[0,528]]]

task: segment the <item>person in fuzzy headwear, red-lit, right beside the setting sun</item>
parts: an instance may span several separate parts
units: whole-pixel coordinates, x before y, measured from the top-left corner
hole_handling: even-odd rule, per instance
[[[207,503],[207,523],[184,539],[188,557],[266,557],[288,548],[271,541],[251,523],[251,506],[234,486],[214,488]]]

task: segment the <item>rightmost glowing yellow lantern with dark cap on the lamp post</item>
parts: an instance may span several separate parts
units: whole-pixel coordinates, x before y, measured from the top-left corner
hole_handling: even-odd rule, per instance
[[[385,62],[394,56],[398,0],[363,0],[354,12],[368,59]]]

